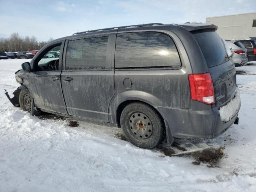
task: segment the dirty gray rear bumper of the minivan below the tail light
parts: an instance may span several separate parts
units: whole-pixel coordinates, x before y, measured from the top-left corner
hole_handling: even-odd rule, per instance
[[[212,139],[234,124],[240,106],[241,102],[239,100],[237,112],[227,122],[221,120],[220,112],[214,105],[206,105],[198,101],[191,101],[190,109],[166,107],[157,109],[166,120],[167,128],[170,129],[172,136],[176,138]]]

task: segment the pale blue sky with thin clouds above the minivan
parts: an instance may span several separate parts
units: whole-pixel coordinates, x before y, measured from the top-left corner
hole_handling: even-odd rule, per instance
[[[56,39],[74,32],[256,12],[255,0],[0,0],[0,37]]]

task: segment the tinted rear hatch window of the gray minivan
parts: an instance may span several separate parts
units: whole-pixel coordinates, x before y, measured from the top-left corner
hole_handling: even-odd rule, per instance
[[[224,44],[215,31],[198,30],[192,32],[192,34],[202,50],[208,68],[220,65],[229,60]]]

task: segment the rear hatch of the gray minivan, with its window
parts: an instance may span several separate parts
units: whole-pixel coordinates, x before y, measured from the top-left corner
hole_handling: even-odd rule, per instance
[[[236,68],[228,58],[225,46],[215,30],[191,32],[204,55],[212,76],[215,104],[219,109],[234,98],[236,92]]]

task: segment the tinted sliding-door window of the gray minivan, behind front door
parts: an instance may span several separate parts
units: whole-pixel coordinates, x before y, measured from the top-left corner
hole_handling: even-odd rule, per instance
[[[108,36],[70,40],[65,70],[106,69]]]

